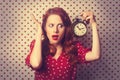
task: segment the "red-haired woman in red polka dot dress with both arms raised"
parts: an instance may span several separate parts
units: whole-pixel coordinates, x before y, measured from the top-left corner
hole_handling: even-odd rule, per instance
[[[93,12],[86,11],[80,15],[91,24],[91,50],[73,41],[71,20],[62,8],[49,9],[43,16],[42,25],[32,15],[38,29],[26,64],[35,70],[35,80],[75,80],[78,63],[99,59],[99,38]]]

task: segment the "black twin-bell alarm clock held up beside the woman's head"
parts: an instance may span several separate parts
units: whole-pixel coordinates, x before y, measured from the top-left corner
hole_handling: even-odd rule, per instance
[[[76,18],[72,24],[73,33],[75,36],[83,36],[87,32],[86,23],[82,19]]]

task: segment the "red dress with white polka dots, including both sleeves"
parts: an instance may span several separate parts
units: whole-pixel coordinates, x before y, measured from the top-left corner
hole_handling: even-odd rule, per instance
[[[34,47],[35,40],[31,42],[30,49],[32,51]],[[81,46],[80,43],[76,43],[75,45],[78,49],[78,60],[80,62],[85,61],[85,55],[89,51]],[[26,64],[30,66],[30,54],[26,58]],[[71,65],[69,62],[69,58],[65,55],[64,52],[58,57],[58,59],[54,59],[51,55],[45,57],[45,70],[36,70],[35,71],[35,80],[75,80],[77,65]]]

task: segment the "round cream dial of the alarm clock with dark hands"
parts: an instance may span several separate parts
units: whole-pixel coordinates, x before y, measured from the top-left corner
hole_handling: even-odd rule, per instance
[[[83,23],[77,23],[74,26],[74,33],[77,36],[83,36],[87,32],[86,26]]]

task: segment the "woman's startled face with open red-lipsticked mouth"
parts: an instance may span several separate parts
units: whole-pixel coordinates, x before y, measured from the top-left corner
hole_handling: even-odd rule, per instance
[[[50,15],[46,22],[45,31],[49,39],[50,44],[61,44],[61,40],[65,33],[65,26],[59,15]]]

